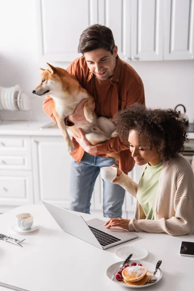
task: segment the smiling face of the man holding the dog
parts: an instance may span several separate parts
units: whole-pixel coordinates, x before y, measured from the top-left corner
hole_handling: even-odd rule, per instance
[[[113,49],[113,54],[106,49],[95,49],[84,54],[86,63],[93,74],[99,80],[106,80],[113,76],[116,65],[117,47]]]

